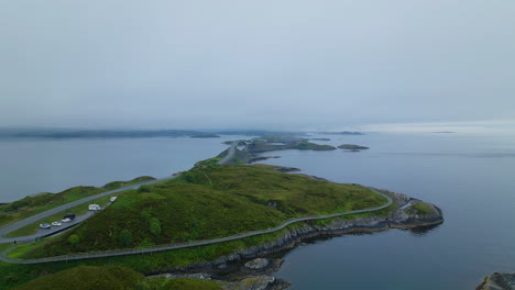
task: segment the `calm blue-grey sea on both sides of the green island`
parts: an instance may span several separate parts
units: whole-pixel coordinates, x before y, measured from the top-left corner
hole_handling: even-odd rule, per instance
[[[515,137],[463,134],[322,136],[361,153],[274,152],[338,182],[409,194],[443,210],[446,222],[303,244],[276,274],[291,289],[474,289],[493,271],[515,271]],[[227,148],[212,140],[0,141],[0,201],[141,175],[164,177]]]

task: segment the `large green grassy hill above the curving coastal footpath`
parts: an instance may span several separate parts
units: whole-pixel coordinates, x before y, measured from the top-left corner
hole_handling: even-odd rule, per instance
[[[366,188],[288,175],[270,166],[200,163],[182,178],[127,192],[26,257],[210,239],[287,219],[381,205]]]

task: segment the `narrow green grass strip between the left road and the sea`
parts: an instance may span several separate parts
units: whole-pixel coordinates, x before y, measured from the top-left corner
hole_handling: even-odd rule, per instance
[[[59,205],[79,199],[95,196],[108,190],[121,188],[123,186],[141,183],[153,179],[153,177],[142,176],[134,178],[130,181],[112,181],[107,183],[102,188],[74,187],[58,193],[45,192],[31,197],[25,197],[21,200],[0,205],[0,226],[21,221],[34,214],[42,213],[44,211],[57,208]]]

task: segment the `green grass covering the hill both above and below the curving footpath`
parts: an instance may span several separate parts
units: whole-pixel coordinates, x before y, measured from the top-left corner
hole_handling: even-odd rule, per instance
[[[267,207],[269,203],[275,204],[275,209]],[[43,257],[215,238],[272,227],[291,217],[328,214],[384,203],[384,198],[360,186],[336,185],[283,174],[271,166],[217,166],[215,161],[199,163],[179,178],[128,191],[111,207],[74,230],[37,244],[22,245],[9,256]],[[344,219],[382,215],[394,209],[392,205],[374,213]],[[155,220],[160,223],[158,234],[150,228]],[[324,224],[331,220],[333,219],[314,223]],[[303,223],[296,223],[288,228],[300,226]],[[130,230],[131,241],[122,245],[120,236],[124,228]],[[213,260],[275,241],[288,228],[227,243],[143,255],[36,265],[0,263],[0,290],[12,289],[41,275],[77,266],[116,265],[149,274]],[[77,244],[69,242],[72,235],[79,237]]]

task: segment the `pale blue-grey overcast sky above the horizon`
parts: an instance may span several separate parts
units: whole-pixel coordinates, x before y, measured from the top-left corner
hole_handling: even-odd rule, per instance
[[[0,126],[515,120],[514,13],[511,0],[0,0]]]

